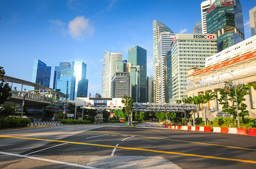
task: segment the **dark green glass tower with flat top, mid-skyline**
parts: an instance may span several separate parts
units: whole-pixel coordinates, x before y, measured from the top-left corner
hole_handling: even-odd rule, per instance
[[[140,46],[128,49],[128,62],[140,66],[140,102],[147,102],[147,50]]]

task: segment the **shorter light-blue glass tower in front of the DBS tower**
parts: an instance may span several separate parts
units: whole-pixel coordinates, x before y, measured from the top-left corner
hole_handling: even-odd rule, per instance
[[[56,88],[60,89],[60,92],[69,95],[67,100],[75,100],[75,84],[76,76],[73,67],[60,71],[60,79],[57,80]]]

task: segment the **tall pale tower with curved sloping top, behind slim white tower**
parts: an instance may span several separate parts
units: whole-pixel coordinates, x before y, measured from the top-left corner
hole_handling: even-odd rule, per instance
[[[156,81],[156,66],[158,66],[158,33],[160,32],[174,33],[168,26],[164,25],[162,22],[158,20],[153,21],[153,68],[154,68],[155,81]],[[155,93],[155,90],[154,90],[154,93]]]

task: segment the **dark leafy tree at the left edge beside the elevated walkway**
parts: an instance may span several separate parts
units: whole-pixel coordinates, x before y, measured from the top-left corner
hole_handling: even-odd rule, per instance
[[[12,88],[8,83],[4,84],[4,67],[0,67],[0,105],[3,104],[9,97],[12,96]]]

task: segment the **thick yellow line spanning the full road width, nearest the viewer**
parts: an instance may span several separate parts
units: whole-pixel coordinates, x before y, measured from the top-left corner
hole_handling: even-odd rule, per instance
[[[48,140],[48,139],[40,139],[40,138],[13,137],[13,136],[1,136],[1,135],[0,135],[0,137],[21,138],[21,139],[29,139],[29,140],[42,140],[42,141],[52,141],[52,142],[61,142],[61,143],[72,143],[72,144],[94,145],[94,146],[121,148],[121,149],[128,149],[128,150],[151,151],[151,152],[159,152],[159,153],[166,153],[166,154],[177,154],[177,155],[183,155],[183,156],[223,159],[223,160],[239,161],[239,162],[256,164],[256,161],[252,161],[252,160],[243,160],[243,159],[236,159],[236,158],[223,158],[223,157],[214,157],[214,156],[203,156],[203,155],[187,154],[187,153],[171,152],[171,151],[159,151],[159,150],[150,150],[150,149],[141,149],[141,148],[132,148],[132,147],[119,147],[119,146],[112,146],[112,145],[91,144],[91,143],[81,143],[81,142],[72,142],[72,141],[61,141],[61,140]]]

